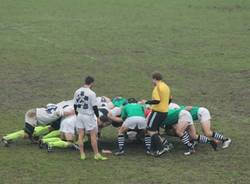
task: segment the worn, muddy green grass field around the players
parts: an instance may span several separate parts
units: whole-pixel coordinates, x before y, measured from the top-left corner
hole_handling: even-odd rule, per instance
[[[71,99],[87,74],[99,96],[148,99],[159,70],[177,102],[208,107],[233,140],[190,157],[174,138],[161,158],[128,145],[107,162],[19,141],[0,147],[0,183],[249,183],[249,20],[248,0],[0,0],[0,136],[22,128],[26,110]],[[106,148],[115,134],[104,130]]]

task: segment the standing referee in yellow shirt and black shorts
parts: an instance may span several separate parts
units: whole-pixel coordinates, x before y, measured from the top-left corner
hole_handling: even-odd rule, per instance
[[[152,150],[156,156],[160,156],[167,151],[162,146],[159,128],[167,118],[170,88],[162,81],[162,75],[159,72],[152,74],[152,80],[155,87],[152,92],[152,100],[146,102],[146,104],[152,105],[152,112],[147,121],[148,135],[145,136],[145,145],[147,154],[151,154]]]

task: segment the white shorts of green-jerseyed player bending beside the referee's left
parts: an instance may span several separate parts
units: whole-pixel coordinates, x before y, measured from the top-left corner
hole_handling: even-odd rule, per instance
[[[144,117],[141,116],[134,116],[134,117],[129,117],[127,118],[122,126],[125,126],[129,129],[135,129],[136,127],[138,129],[146,129],[147,127],[147,123],[146,123],[146,119]]]

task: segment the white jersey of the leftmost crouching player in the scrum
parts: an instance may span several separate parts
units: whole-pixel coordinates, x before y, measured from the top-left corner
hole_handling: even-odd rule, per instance
[[[58,120],[60,117],[56,114],[55,111],[52,113],[48,113],[45,108],[37,108],[36,118],[38,124],[47,125]]]

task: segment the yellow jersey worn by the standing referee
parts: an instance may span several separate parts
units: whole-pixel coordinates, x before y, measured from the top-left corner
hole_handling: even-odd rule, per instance
[[[152,100],[159,100],[160,103],[152,105],[152,110],[157,112],[168,112],[170,89],[168,85],[159,81],[152,92]]]

